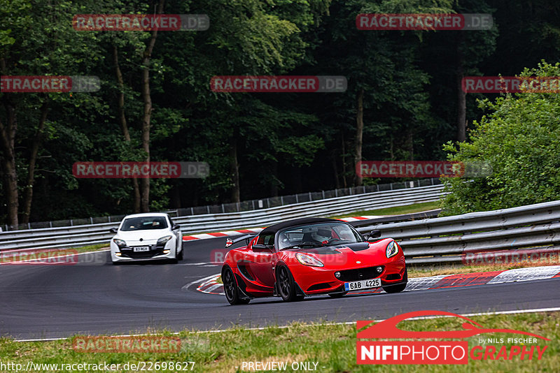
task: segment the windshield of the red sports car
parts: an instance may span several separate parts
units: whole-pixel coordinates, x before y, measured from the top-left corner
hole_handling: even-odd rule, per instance
[[[279,249],[319,247],[363,242],[363,237],[343,223],[321,223],[286,228],[279,232]]]

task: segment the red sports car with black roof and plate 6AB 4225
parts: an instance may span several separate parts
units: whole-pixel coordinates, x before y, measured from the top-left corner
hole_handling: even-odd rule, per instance
[[[317,294],[339,298],[367,288],[403,291],[405,256],[392,238],[370,242],[380,235],[372,231],[366,240],[344,221],[304,218],[241,237],[235,242],[245,239],[246,247],[231,249],[222,267],[225,298],[246,305],[268,296],[289,302]]]

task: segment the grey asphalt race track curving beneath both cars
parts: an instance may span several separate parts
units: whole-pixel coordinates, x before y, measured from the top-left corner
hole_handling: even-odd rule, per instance
[[[185,242],[185,259],[178,264],[111,265],[109,253],[99,252],[76,265],[0,265],[0,337],[356,321],[422,309],[463,314],[560,306],[556,277],[342,299],[320,296],[293,303],[265,298],[233,307],[223,295],[200,293],[196,285],[186,287],[220,272],[220,266],[209,262],[211,250],[222,249],[224,242],[223,237]]]

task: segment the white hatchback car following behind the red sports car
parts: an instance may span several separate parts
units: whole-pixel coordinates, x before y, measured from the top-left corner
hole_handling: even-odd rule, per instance
[[[147,261],[183,259],[181,226],[174,224],[167,214],[151,213],[128,215],[111,239],[111,261]]]

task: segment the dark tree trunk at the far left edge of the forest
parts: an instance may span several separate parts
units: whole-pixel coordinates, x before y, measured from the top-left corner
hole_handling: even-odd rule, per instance
[[[6,207],[8,213],[8,224],[18,228],[18,173],[15,168],[15,133],[18,129],[18,121],[15,118],[15,108],[7,100],[4,101],[6,108],[6,126],[0,121],[0,147],[3,156],[3,187],[6,191]]]

